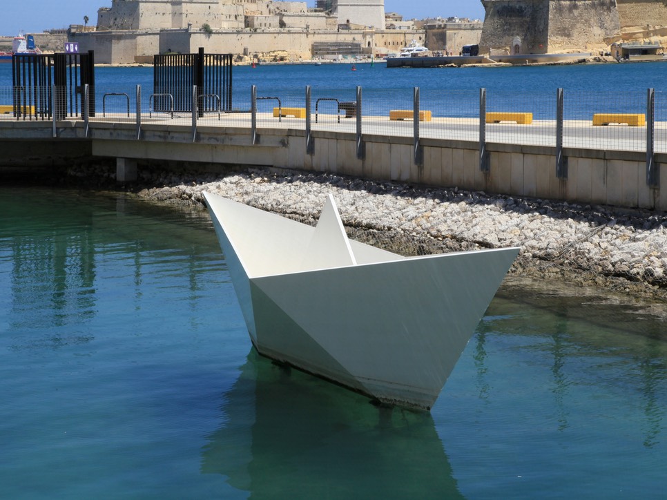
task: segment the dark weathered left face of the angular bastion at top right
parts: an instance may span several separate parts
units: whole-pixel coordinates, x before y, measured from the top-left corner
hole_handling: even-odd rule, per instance
[[[549,0],[482,0],[484,27],[479,41],[481,53],[547,52]]]

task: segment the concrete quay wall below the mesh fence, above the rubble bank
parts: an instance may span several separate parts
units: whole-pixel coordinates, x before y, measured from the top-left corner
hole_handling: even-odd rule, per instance
[[[122,160],[159,160],[166,164],[197,164],[215,171],[223,166],[262,166],[317,173],[337,173],[369,180],[395,180],[431,186],[454,187],[521,197],[566,200],[579,204],[609,204],[627,208],[667,210],[667,179],[659,186],[646,184],[645,153],[564,148],[568,177],[556,176],[555,150],[550,146],[487,144],[490,171],[479,169],[476,142],[423,139],[423,165],[414,164],[410,137],[363,135],[365,157],[356,154],[356,134],[313,131],[314,153],[306,152],[303,130],[258,128],[258,144],[252,144],[249,128],[198,126],[195,140],[189,126],[144,124],[137,140],[134,124],[90,123],[85,137],[82,122],[59,122],[57,138],[51,124],[0,122],[3,148],[16,140],[71,148],[72,157],[90,151],[93,157]],[[68,146],[62,146],[68,144]],[[88,149],[90,148],[90,149]],[[119,153],[122,152],[122,153]],[[21,154],[21,153],[17,153]],[[20,159],[19,159],[20,160]],[[6,157],[4,162],[17,163]],[[20,162],[20,161],[19,161]],[[657,164],[667,155],[656,154]]]

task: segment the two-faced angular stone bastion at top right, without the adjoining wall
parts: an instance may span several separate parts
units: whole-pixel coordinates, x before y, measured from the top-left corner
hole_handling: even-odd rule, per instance
[[[619,37],[616,0],[481,0],[480,52],[598,50]]]

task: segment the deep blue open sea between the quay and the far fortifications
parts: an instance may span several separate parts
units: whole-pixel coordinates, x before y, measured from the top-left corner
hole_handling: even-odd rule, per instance
[[[235,66],[232,108],[249,110],[251,86],[259,97],[278,97],[283,106],[303,106],[311,86],[313,106],[320,97],[356,99],[363,90],[365,113],[386,114],[411,108],[413,89],[421,90],[423,107],[436,116],[476,117],[479,89],[487,90],[487,110],[530,109],[535,119],[555,119],[556,91],[565,93],[565,119],[590,119],[591,113],[645,113],[646,91],[655,89],[656,119],[667,122],[667,61],[644,63],[568,64],[489,68],[387,68],[383,61],[352,64],[287,64]],[[12,85],[10,64],[0,64],[0,89]],[[97,106],[105,94],[126,93],[134,113],[136,86],[142,86],[142,106],[148,110],[153,93],[153,67],[95,68]],[[11,102],[10,90],[0,95]],[[110,105],[124,106],[122,98]],[[5,103],[3,103],[5,104]],[[267,109],[275,102],[267,101]],[[264,106],[264,103],[262,103]],[[120,108],[119,108],[120,109]]]

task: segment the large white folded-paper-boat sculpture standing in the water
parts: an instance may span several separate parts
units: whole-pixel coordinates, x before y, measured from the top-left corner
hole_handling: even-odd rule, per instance
[[[429,410],[519,249],[406,258],[205,193],[253,345],[383,403]]]

